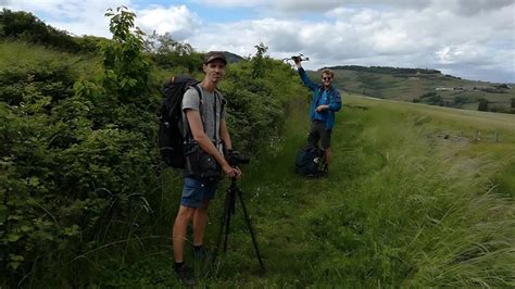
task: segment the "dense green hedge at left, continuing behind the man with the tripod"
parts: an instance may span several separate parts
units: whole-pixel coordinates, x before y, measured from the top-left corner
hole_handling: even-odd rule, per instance
[[[9,53],[0,58],[0,286],[45,280],[79,287],[92,278],[89,268],[137,255],[135,244],[152,240],[145,236],[154,219],[174,214],[172,208],[155,210],[163,206],[154,193],[162,186],[160,85],[176,73],[200,77],[200,53],[145,53],[135,15],[118,9],[108,16],[113,39],[102,43],[100,63],[21,42],[0,45],[27,53],[11,53],[18,61]],[[254,59],[229,65],[223,83],[233,139],[246,150],[274,141],[281,103],[304,91],[289,67],[262,54],[266,73],[256,76]]]

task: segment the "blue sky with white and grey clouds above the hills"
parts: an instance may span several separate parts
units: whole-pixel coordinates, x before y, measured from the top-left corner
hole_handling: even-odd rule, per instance
[[[200,52],[329,65],[428,67],[515,83],[515,0],[0,0],[75,35],[110,37],[108,8],[126,5],[147,33],[171,33]]]

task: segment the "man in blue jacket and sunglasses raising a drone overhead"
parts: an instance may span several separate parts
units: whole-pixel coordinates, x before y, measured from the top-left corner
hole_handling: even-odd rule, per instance
[[[313,91],[313,101],[310,106],[310,121],[312,123],[310,135],[307,136],[307,147],[316,148],[318,141],[321,141],[322,149],[324,150],[324,160],[328,165],[335,112],[341,108],[340,92],[331,85],[335,74],[332,71],[325,68],[322,71],[322,84],[314,84],[302,67],[300,59],[296,59],[296,66],[304,85]]]

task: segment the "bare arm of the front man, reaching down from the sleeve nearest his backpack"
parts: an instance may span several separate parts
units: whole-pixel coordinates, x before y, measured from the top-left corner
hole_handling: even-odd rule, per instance
[[[206,153],[213,155],[213,158],[222,166],[222,169],[224,169],[227,176],[229,177],[239,176],[241,172],[239,169],[235,169],[227,163],[224,155],[222,155],[222,153],[216,149],[216,147],[213,144],[211,139],[205,135],[199,111],[186,110],[185,113],[186,113],[186,117],[188,118],[191,136],[197,141],[199,147],[202,150],[204,150]],[[221,128],[222,128],[222,123],[221,123]]]

